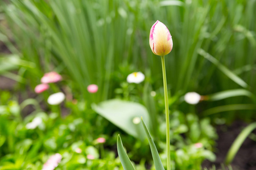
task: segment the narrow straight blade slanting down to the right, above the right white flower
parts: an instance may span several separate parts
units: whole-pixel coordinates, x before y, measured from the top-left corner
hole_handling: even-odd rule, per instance
[[[239,76],[234,74],[232,71],[230,71],[226,66],[222,65],[220,61],[218,61],[213,56],[210,56],[209,53],[205,52],[203,49],[200,49],[198,52],[201,56],[208,59],[210,62],[212,62],[214,65],[217,66],[218,69],[222,71],[226,76],[228,76],[230,79],[232,79],[234,82],[236,82],[238,85],[247,88],[248,84],[242,80]]]

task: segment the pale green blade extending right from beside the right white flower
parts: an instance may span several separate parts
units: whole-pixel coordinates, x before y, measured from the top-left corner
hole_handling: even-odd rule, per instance
[[[213,100],[213,101],[222,100],[222,99],[235,97],[235,96],[248,96],[256,103],[256,96],[252,94],[250,91],[242,88],[217,92],[216,94],[209,95],[209,100]]]

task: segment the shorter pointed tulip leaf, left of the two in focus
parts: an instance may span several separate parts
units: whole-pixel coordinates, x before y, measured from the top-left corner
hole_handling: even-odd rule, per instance
[[[129,159],[128,155],[126,154],[125,148],[123,148],[123,143],[122,143],[122,140],[121,140],[121,137],[120,137],[119,134],[118,134],[118,137],[117,137],[117,152],[118,152],[118,155],[119,155],[119,159],[121,160],[121,163],[123,165],[123,169],[133,170],[134,166],[131,163],[131,160]]]

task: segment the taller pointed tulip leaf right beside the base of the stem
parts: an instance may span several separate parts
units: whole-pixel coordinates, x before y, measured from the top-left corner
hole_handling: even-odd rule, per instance
[[[150,144],[150,150],[151,150],[151,154],[152,154],[152,157],[154,160],[155,169],[164,170],[163,164],[162,164],[160,156],[158,154],[158,150],[156,149],[155,143],[150,135],[150,132],[148,131],[147,126],[143,121],[143,118],[141,118],[141,120],[142,120],[143,128],[147,135],[148,142]]]

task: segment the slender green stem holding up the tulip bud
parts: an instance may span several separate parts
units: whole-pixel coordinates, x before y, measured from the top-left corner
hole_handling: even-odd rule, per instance
[[[163,70],[163,86],[164,86],[164,103],[166,105],[166,148],[167,148],[167,170],[171,170],[171,158],[170,158],[170,118],[169,118],[169,104],[168,104],[168,92],[166,81],[166,65],[164,63],[164,56],[161,56],[162,70]]]

